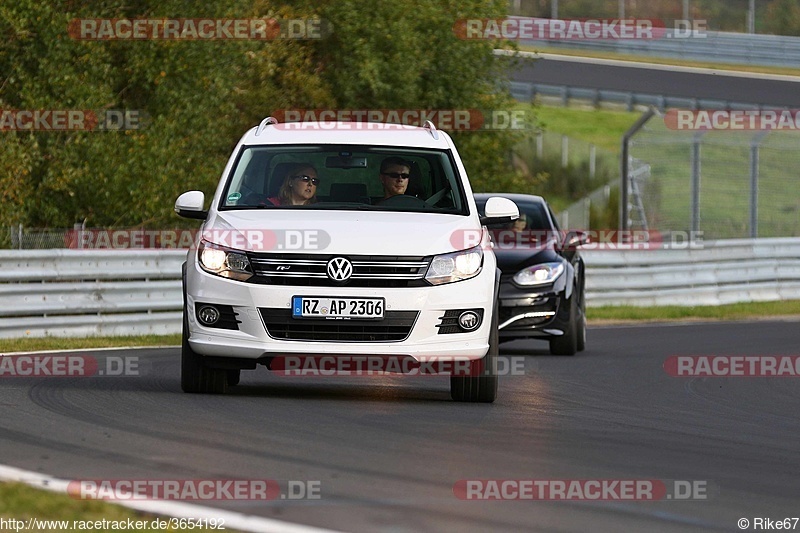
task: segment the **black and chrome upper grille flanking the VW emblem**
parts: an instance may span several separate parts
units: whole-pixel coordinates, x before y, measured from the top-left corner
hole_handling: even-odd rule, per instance
[[[353,263],[347,281],[333,281],[326,266],[335,255],[248,254],[252,283],[300,287],[422,287],[430,257],[346,256]]]

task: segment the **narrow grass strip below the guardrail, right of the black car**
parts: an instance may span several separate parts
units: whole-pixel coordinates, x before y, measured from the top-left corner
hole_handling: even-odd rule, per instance
[[[747,320],[766,317],[800,316],[800,300],[781,302],[750,302],[719,306],[665,306],[665,307],[633,307],[609,306],[590,307],[586,310],[589,324],[601,321],[675,321],[686,319],[706,320]]]

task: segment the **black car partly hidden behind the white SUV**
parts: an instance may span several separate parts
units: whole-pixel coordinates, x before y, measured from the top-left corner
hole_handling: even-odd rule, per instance
[[[527,194],[476,194],[478,210],[486,200],[504,196],[519,207],[511,224],[488,226],[500,278],[500,342],[539,338],[553,355],[574,355],[586,346],[585,268],[577,247],[582,232],[562,232],[544,198]]]

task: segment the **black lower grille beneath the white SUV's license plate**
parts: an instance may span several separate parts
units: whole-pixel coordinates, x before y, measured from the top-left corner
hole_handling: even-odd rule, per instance
[[[386,311],[383,320],[294,318],[290,309],[259,308],[273,339],[399,342],[408,338],[418,311]]]

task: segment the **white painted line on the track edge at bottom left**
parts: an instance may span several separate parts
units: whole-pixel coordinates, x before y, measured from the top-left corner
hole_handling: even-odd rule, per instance
[[[0,465],[0,481],[15,481],[25,483],[31,487],[45,489],[52,492],[67,494],[69,481],[54,478],[38,472],[22,470],[13,466]],[[163,500],[144,500],[144,501],[123,501],[123,500],[102,500],[107,503],[122,505],[137,511],[152,513],[176,518],[207,518],[224,520],[226,529],[238,529],[240,531],[253,531],[256,533],[335,533],[330,529],[320,529],[301,524],[282,522],[271,518],[260,516],[245,515],[233,511],[225,511],[203,505],[192,503],[163,501]]]

